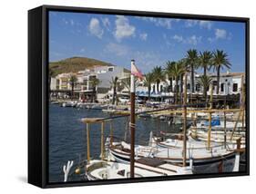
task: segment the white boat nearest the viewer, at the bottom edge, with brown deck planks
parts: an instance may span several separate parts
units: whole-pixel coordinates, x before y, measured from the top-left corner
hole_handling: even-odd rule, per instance
[[[192,174],[189,167],[177,167],[163,160],[143,159],[135,162],[134,178]],[[97,179],[128,179],[130,165],[109,160],[91,160],[86,166],[86,177]]]

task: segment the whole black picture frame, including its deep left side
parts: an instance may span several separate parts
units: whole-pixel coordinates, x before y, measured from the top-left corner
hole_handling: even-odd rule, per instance
[[[221,174],[182,175],[143,179],[108,179],[85,182],[48,181],[48,12],[76,12],[108,15],[138,15],[241,22],[246,25],[246,170]],[[186,15],[158,12],[42,5],[28,11],[28,183],[40,188],[74,187],[172,179],[206,179],[250,174],[250,19],[218,15]]]

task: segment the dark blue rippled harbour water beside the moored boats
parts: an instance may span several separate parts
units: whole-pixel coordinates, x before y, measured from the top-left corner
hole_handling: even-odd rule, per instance
[[[55,104],[49,105],[49,181],[63,181],[63,165],[67,160],[78,160],[79,155],[87,154],[86,126],[80,120],[87,117],[109,117],[100,110],[63,108]],[[136,143],[148,144],[149,132],[158,134],[160,131],[177,132],[179,129],[168,125],[166,121],[154,119],[137,119]],[[124,139],[128,118],[113,121],[114,136]],[[109,135],[109,125],[106,125],[105,139]],[[98,159],[100,154],[100,125],[93,124],[90,130],[91,157]],[[69,180],[79,180],[70,178]]]

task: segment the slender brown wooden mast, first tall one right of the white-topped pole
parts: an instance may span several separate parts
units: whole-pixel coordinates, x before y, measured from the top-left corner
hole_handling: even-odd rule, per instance
[[[183,99],[183,167],[187,161],[187,73],[184,73],[184,99]]]

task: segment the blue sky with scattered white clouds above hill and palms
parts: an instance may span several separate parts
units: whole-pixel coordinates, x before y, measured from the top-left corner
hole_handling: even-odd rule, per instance
[[[245,24],[123,15],[50,12],[50,62],[85,56],[142,73],[177,61],[189,49],[224,50],[232,72],[245,69]],[[225,72],[226,70],[223,70]],[[200,72],[200,70],[198,71]]]

